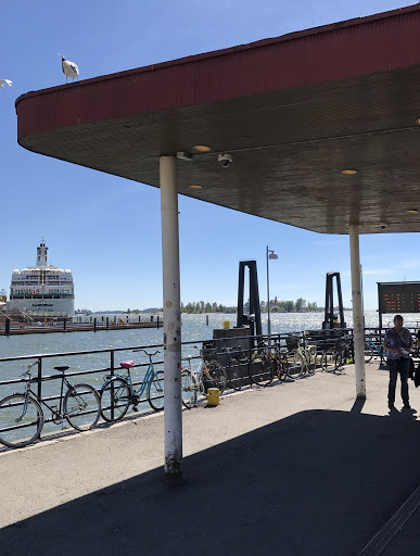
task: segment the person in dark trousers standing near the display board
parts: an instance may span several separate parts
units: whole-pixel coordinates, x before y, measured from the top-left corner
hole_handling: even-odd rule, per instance
[[[402,399],[405,409],[410,409],[408,397],[408,371],[410,368],[409,352],[412,348],[412,338],[407,328],[404,328],[404,318],[400,315],[394,317],[394,328],[385,332],[383,346],[387,351],[387,368],[390,369],[390,386],[387,390],[387,406],[394,408],[395,388],[397,376],[402,381]]]

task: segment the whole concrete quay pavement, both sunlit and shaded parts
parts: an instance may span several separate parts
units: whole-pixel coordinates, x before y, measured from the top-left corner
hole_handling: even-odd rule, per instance
[[[358,555],[420,482],[417,413],[389,413],[376,362],[367,390],[355,402],[347,366],[183,412],[178,488],[164,485],[161,414],[2,450],[0,554]],[[415,511],[362,554],[418,556],[419,526]]]

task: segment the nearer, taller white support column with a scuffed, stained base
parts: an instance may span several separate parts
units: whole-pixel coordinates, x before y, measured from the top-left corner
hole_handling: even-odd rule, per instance
[[[165,370],[165,479],[182,482],[181,307],[178,189],[175,156],[161,156]]]

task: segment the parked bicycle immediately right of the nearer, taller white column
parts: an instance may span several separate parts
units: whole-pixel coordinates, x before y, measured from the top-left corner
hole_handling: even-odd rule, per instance
[[[196,350],[200,350],[194,345]],[[215,350],[206,350],[215,354]],[[218,388],[220,394],[225,391],[227,377],[224,367],[216,359],[208,361],[204,356],[204,350],[200,350],[200,363],[196,370],[192,367],[192,355],[182,357],[188,362],[187,367],[181,368],[182,404],[189,409],[196,405],[198,394],[205,395],[208,388]]]

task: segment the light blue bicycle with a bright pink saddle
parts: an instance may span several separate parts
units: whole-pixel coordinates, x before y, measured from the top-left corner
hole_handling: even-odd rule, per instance
[[[133,352],[144,352],[149,357],[149,366],[144,379],[138,390],[135,390],[130,368],[133,361],[123,361],[119,365],[126,369],[126,375],[106,375],[105,382],[100,391],[101,415],[107,422],[115,422],[123,419],[131,404],[132,410],[138,412],[138,404],[145,399],[141,399],[147,391],[147,400],[155,412],[164,408],[164,372],[155,371],[152,357],[160,351],[148,353],[145,350],[132,350]]]

